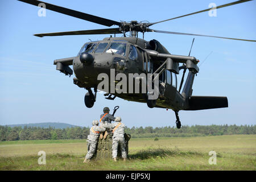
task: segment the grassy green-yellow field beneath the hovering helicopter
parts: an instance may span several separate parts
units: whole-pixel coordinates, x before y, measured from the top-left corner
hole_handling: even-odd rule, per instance
[[[38,152],[46,152],[46,165]],[[209,151],[217,164],[210,165]],[[129,160],[82,163],[86,140],[28,140],[0,142],[0,170],[255,170],[256,135],[214,137],[135,138]]]

